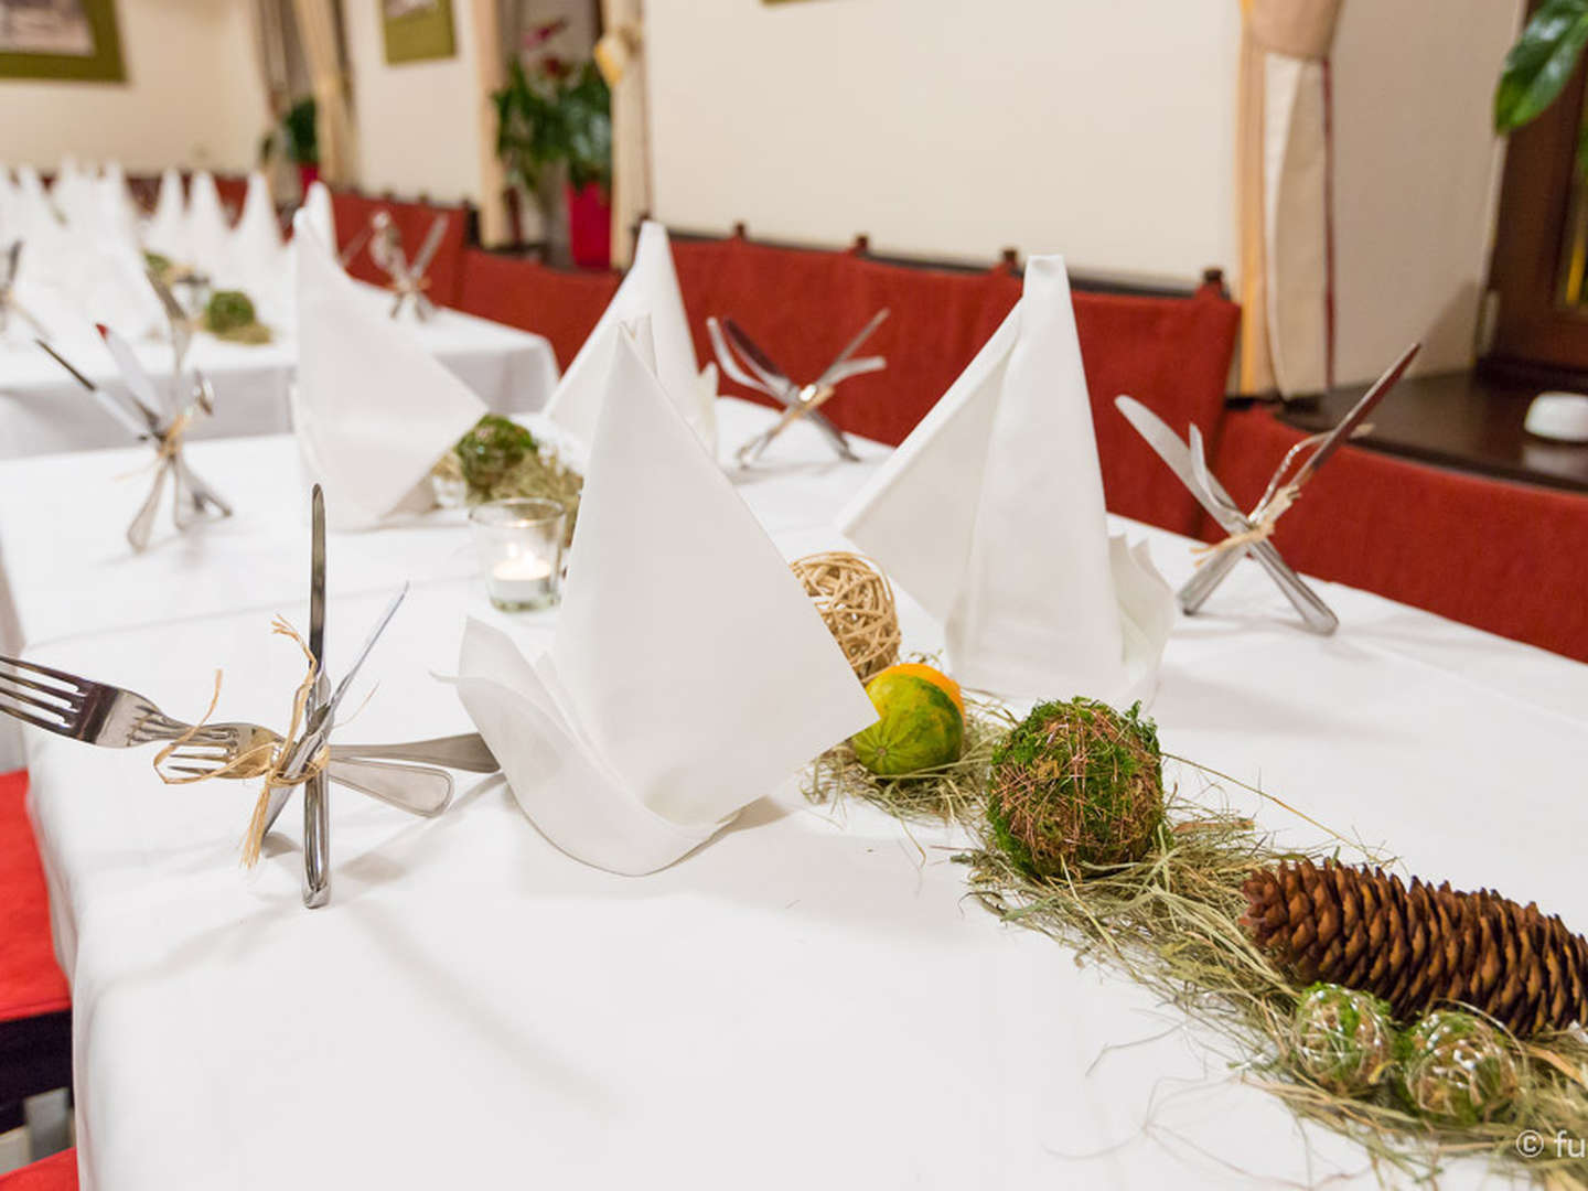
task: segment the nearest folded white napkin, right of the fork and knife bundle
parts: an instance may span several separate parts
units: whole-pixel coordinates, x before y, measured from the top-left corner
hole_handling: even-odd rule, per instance
[[[551,651],[470,621],[456,683],[535,826],[640,875],[877,715],[629,335],[603,387]]]

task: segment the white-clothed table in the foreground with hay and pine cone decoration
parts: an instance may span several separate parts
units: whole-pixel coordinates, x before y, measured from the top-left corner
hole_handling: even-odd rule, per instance
[[[719,402],[724,459],[773,414]],[[197,443],[238,516],[140,557],[106,516],[135,453],[0,465],[0,637],[197,715],[278,723],[302,676],[268,635],[306,618],[306,519],[286,437]],[[788,557],[840,546],[886,449],[831,459],[805,426],[730,472]],[[70,499],[43,513],[38,484]],[[67,483],[70,481],[70,483]],[[1145,538],[1172,583],[1189,543]],[[688,532],[686,526],[680,532]],[[329,540],[337,673],[391,591],[368,703],[338,738],[467,730],[465,616],[526,653],[554,613],[491,610],[441,511]],[[1166,751],[1282,794],[1405,872],[1537,899],[1588,924],[1588,667],[1320,584],[1302,632],[1251,564],[1170,637]],[[940,634],[907,597],[907,649]],[[753,664],[753,659],[746,659]],[[1054,692],[1067,694],[1067,692]],[[164,786],[148,757],[27,737],[30,810],[73,989],[86,1188],[1031,1188],[1372,1185],[1172,1007],[966,897],[966,838],[797,778],[643,878],[589,869],[500,778],[434,821],[332,796],[332,902],[300,904],[294,802],[245,873],[249,783]],[[1282,840],[1318,829],[1180,764]],[[1442,1186],[1491,1185],[1477,1164]]]

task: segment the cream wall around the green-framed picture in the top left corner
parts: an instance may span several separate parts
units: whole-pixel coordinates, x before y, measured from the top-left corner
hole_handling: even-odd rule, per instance
[[[118,0],[127,83],[0,81],[0,160],[241,170],[265,127],[240,0]]]

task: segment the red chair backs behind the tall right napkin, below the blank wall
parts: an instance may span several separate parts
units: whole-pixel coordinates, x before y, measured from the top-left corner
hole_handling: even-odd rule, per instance
[[[885,443],[902,441],[926,416],[1021,291],[1021,279],[1005,270],[918,268],[738,238],[675,240],[673,260],[702,362],[713,357],[707,318],[730,316],[794,380],[813,380],[865,319],[883,306],[892,311],[867,345],[888,357],[888,368],[846,381],[827,407],[838,426]],[[1240,308],[1216,284],[1186,297],[1077,287],[1075,322],[1108,508],[1194,534],[1196,500],[1118,414],[1113,399],[1131,394],[1181,432],[1194,421],[1216,437]],[[734,384],[723,387],[757,399]]]

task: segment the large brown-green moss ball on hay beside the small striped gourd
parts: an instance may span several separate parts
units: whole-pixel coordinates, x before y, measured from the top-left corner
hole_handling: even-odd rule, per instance
[[[1042,703],[992,751],[988,824],[1026,873],[1142,859],[1164,819],[1158,730],[1142,705]]]

